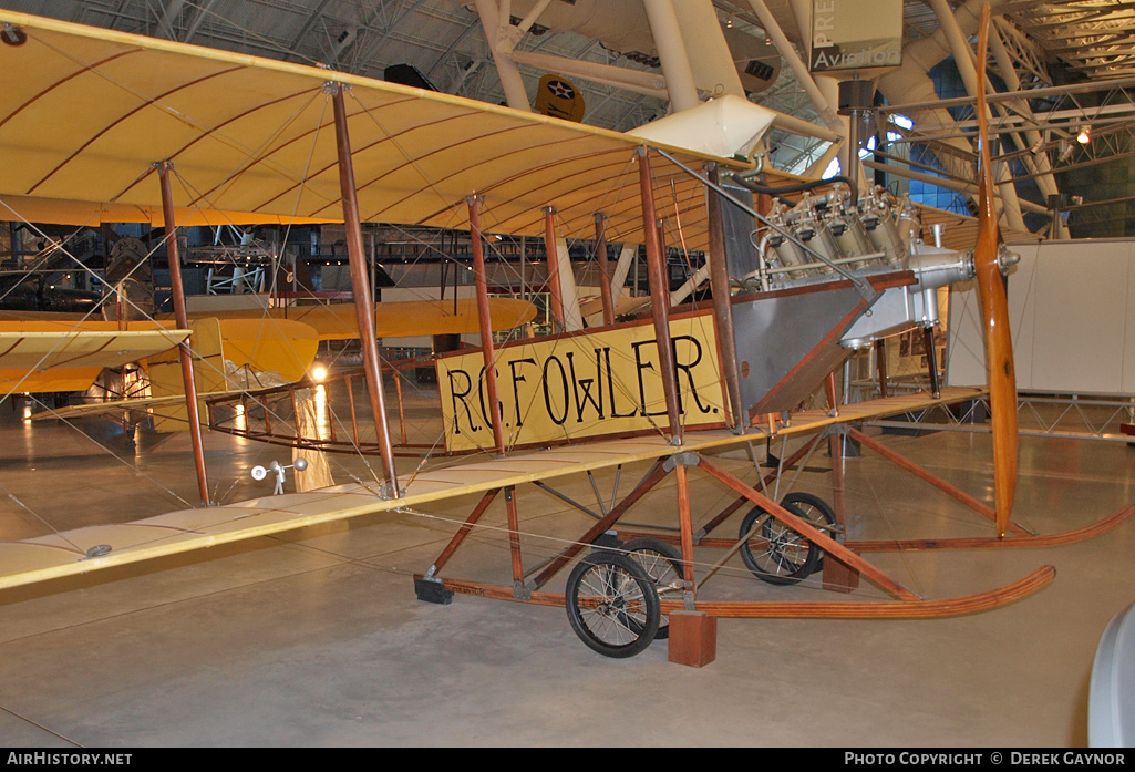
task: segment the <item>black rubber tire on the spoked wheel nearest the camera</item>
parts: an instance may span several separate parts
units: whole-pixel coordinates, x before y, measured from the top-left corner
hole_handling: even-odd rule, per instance
[[[625,613],[617,611],[606,612],[600,609],[580,607],[579,598],[581,590],[583,590],[583,595],[588,590],[588,587],[582,586],[585,582],[590,584],[599,580],[607,584],[609,588],[609,578],[605,581],[602,576],[605,572],[611,573],[612,577],[609,578],[617,579],[621,585],[620,591],[613,598],[616,605],[625,604],[627,582],[633,582],[638,590],[637,594],[641,596],[641,621],[628,619]],[[564,605],[568,609],[568,621],[571,622],[575,635],[590,649],[604,656],[615,658],[634,656],[649,646],[658,632],[661,612],[658,610],[658,594],[654,589],[654,580],[647,576],[646,569],[639,565],[637,561],[620,553],[603,549],[591,553],[577,563],[568,577],[568,585],[564,590]],[[624,643],[608,643],[589,624],[589,620],[595,619],[596,615],[602,619],[614,620],[616,624],[632,636],[631,639]],[[616,620],[617,615],[621,615],[622,619]]]

